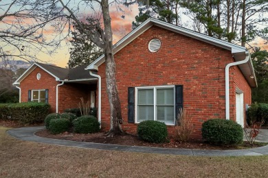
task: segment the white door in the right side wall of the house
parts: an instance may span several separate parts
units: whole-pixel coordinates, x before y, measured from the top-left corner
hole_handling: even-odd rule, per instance
[[[236,123],[244,127],[244,99],[243,93],[236,93]]]

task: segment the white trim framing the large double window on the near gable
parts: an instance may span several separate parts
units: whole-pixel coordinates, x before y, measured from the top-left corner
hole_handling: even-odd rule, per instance
[[[135,87],[135,123],[140,123],[137,121],[137,90],[139,89],[153,89],[153,104],[154,104],[154,120],[156,120],[156,90],[157,88],[172,88],[173,89],[173,96],[174,96],[174,120],[173,120],[173,124],[168,124],[168,123],[165,123],[166,125],[175,125],[175,120],[176,120],[176,113],[175,113],[175,86],[139,86],[139,87]]]

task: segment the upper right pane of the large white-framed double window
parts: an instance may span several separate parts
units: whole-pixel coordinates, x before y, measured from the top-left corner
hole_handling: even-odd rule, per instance
[[[157,89],[157,105],[174,105],[173,88]]]

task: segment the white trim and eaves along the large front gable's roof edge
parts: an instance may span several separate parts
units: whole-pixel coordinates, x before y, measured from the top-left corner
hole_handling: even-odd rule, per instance
[[[197,40],[201,40],[203,42],[207,42],[209,44],[213,44],[214,46],[221,47],[223,49],[227,49],[232,52],[232,55],[234,56],[235,61],[241,61],[245,60],[245,57],[247,55],[247,49],[245,47],[241,47],[238,44],[233,44],[231,42],[227,42],[225,40],[219,40],[218,38],[214,38],[211,36],[207,36],[205,34],[201,34],[197,31],[192,31],[190,29],[186,29],[183,27],[179,27],[177,25],[173,25],[170,23],[166,23],[164,21],[159,21],[155,18],[148,18],[144,23],[139,25],[139,27],[133,29],[129,34],[124,36],[121,40],[119,40],[116,44],[113,45],[113,54],[120,51],[122,48],[124,48],[127,44],[135,40],[139,35],[144,33],[147,29],[152,27],[153,25],[157,27],[161,27],[164,29],[168,29],[170,31],[174,31],[175,33],[182,34],[184,36],[189,36],[190,38],[194,38]],[[97,60],[89,64],[85,70],[93,70],[98,71],[98,66],[104,63],[104,54],[101,55]],[[246,64],[241,64],[238,66],[245,78],[247,79],[248,83],[252,87],[257,86],[256,77],[254,73],[254,67],[252,64],[252,60],[249,60]],[[249,76],[254,76],[252,77]]]

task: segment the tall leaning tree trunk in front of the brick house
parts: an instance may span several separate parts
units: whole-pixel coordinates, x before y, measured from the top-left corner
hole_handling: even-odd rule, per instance
[[[106,84],[107,93],[110,103],[110,119],[111,126],[107,136],[114,136],[115,134],[122,133],[121,124],[122,114],[120,99],[118,96],[118,88],[115,80],[115,60],[113,58],[113,32],[111,29],[111,17],[109,14],[108,0],[102,0],[102,16],[104,21],[105,41],[104,41],[104,56],[106,64]]]

